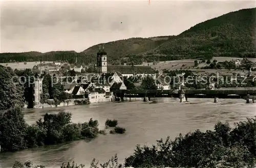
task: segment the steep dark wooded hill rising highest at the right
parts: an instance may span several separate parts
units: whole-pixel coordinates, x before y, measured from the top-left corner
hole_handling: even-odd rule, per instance
[[[160,61],[198,57],[256,57],[256,8],[230,12],[204,21],[141,54]]]

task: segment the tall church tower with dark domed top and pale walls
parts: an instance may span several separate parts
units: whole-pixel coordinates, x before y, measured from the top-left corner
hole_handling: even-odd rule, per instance
[[[107,73],[108,71],[108,65],[106,61],[106,52],[104,51],[104,46],[102,51],[99,50],[97,53],[97,68],[98,68],[98,73]]]

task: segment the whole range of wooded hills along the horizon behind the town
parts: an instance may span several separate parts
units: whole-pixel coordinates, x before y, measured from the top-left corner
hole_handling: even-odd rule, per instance
[[[110,64],[142,61],[166,61],[212,57],[256,58],[256,8],[242,9],[206,20],[177,36],[151,38],[129,38],[104,44]],[[0,62],[13,61],[56,61],[71,63],[96,61],[97,44],[81,53],[58,51],[48,53],[2,53]]]

